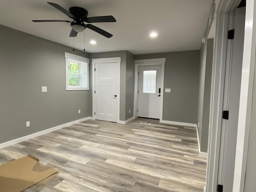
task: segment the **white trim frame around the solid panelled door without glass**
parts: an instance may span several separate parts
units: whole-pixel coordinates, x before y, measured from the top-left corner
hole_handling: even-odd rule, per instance
[[[117,75],[117,109],[116,109],[116,122],[122,123],[120,121],[120,64],[121,57],[112,57],[112,58],[98,58],[92,59],[92,119],[95,120],[95,64],[100,63],[117,63],[118,64],[118,75]]]

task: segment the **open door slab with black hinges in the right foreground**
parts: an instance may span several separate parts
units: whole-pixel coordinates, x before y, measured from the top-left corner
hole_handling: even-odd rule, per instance
[[[235,10],[234,23],[234,40],[232,54],[232,68],[230,78],[229,94],[229,117],[225,134],[222,135],[224,140],[224,155],[222,166],[223,191],[233,191],[234,166],[236,156],[236,139],[238,130],[238,113],[242,77],[242,60],[244,48],[244,26],[245,26],[245,7]]]

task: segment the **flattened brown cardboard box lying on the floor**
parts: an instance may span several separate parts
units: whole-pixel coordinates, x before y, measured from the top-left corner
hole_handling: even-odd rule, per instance
[[[56,170],[28,155],[0,166],[0,192],[21,192],[34,184],[41,186],[56,174]]]

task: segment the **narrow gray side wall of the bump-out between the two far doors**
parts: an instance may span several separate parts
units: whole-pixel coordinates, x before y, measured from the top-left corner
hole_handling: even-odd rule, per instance
[[[134,54],[126,51],[125,120],[133,117],[134,97]],[[130,113],[129,113],[130,110]]]

